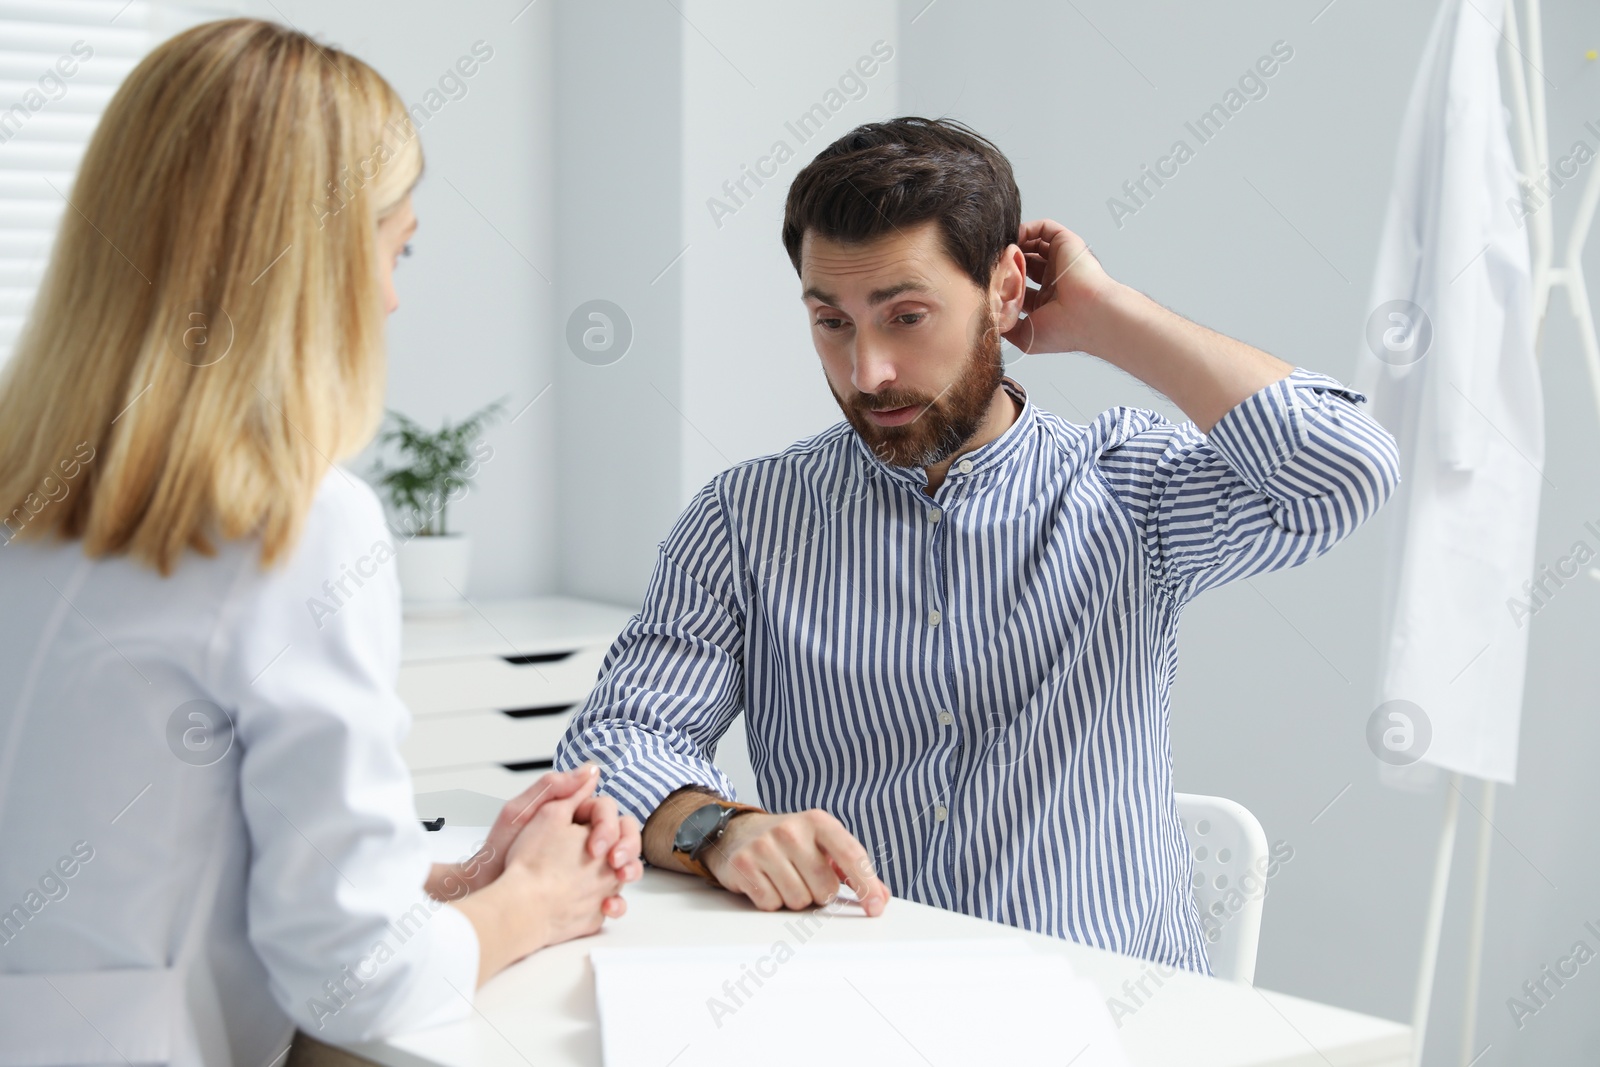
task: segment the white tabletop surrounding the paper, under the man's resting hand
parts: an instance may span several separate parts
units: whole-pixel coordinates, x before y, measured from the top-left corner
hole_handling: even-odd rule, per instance
[[[438,797],[434,805],[458,805],[450,809],[462,811],[459,805],[464,800],[458,792]],[[546,949],[486,984],[477,993],[470,1019],[352,1051],[389,1067],[600,1067],[590,949],[771,944],[786,936],[784,923],[794,920],[792,912],[758,912],[742,897],[688,875],[661,870],[646,870],[640,883],[629,886],[627,901],[627,915],[608,921],[600,934]],[[1027,937],[1062,953],[1106,997],[1126,997],[1123,982],[1149,974],[1144,960],[1026,934],[910,901],[891,901],[878,918],[867,918],[853,909],[843,912],[826,921],[813,941],[845,944],[994,936]],[[1146,977],[1150,997],[1133,1016],[1122,1019],[1118,1035],[1130,1062],[1136,1065],[1402,1067],[1410,1062],[1411,1029],[1398,1022],[1187,971],[1162,981],[1157,989]],[[848,1062],[848,1049],[830,1048],[821,1030],[774,1040],[816,1040],[818,1062]],[[1062,1061],[1066,1057],[1067,1053]]]

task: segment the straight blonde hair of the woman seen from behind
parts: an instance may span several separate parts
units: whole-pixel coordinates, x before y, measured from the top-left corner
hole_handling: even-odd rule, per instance
[[[290,550],[382,418],[376,226],[421,170],[394,88],[304,34],[206,22],[139,62],[0,386],[0,541],[163,574],[216,539]]]

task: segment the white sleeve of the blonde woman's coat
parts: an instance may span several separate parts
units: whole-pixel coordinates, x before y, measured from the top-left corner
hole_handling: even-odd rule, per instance
[[[470,920],[427,896],[400,753],[400,587],[376,498],[331,472],[293,557],[246,576],[219,641],[250,832],[250,941],[274,998],[333,1043],[472,1011]]]

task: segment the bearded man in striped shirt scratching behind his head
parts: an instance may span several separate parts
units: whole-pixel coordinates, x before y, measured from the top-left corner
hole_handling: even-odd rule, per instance
[[[869,915],[893,893],[1210,973],[1168,741],[1179,614],[1366,522],[1394,438],[1358,392],[1024,226],[1006,158],[954,122],[835,141],[782,240],[845,421],[696,494],[557,765],[602,765],[650,864],[760,909],[848,883]],[[1102,358],[1189,422],[1069,422],[1002,338]],[[739,713],[765,809],[712,761]]]

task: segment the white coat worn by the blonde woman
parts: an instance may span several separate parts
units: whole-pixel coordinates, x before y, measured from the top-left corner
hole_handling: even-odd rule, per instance
[[[0,1065],[264,1067],[293,1025],[469,1014],[477,936],[422,889],[387,541],[334,470],[266,573],[253,541],[171,577],[0,547]]]

